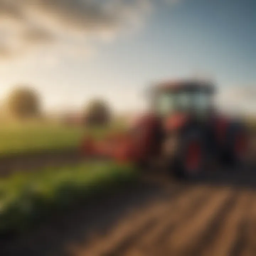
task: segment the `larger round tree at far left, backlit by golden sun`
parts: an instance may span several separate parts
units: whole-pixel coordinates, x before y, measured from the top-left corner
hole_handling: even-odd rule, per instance
[[[36,91],[19,85],[7,98],[7,109],[15,118],[34,118],[40,113],[40,100]]]

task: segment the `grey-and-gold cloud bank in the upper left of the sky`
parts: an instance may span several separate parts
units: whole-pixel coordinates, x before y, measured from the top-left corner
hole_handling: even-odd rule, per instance
[[[70,43],[70,38],[111,40],[142,24],[156,4],[156,0],[0,0],[0,57],[39,44]]]

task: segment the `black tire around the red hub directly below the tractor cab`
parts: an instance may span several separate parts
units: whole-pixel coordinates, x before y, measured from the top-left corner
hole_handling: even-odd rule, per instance
[[[192,143],[198,147],[199,159],[198,164],[189,168],[186,159],[188,156],[188,149]],[[199,128],[186,129],[180,134],[176,154],[172,159],[170,159],[169,170],[178,179],[196,178],[203,171],[204,160],[205,157],[202,131]]]

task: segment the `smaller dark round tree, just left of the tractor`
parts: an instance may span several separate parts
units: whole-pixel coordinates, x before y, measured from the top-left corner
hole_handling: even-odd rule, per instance
[[[110,122],[111,111],[108,104],[101,99],[91,100],[84,113],[84,122],[88,126],[104,126]]]

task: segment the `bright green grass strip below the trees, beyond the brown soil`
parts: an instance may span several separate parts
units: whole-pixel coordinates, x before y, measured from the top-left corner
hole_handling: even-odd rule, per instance
[[[101,137],[116,129],[116,126],[108,129],[49,125],[4,126],[0,127],[0,155],[73,149],[80,145],[85,134]]]

